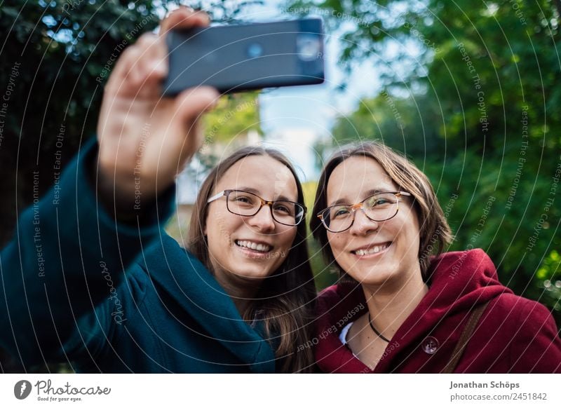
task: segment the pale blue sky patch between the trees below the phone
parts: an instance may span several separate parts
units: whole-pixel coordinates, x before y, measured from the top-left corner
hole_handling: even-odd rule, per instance
[[[303,17],[286,13],[281,4],[277,0],[266,0],[263,6],[248,8],[242,17],[256,22]],[[375,95],[381,83],[372,63],[368,62],[353,67],[351,76],[347,76],[337,63],[341,49],[337,34],[325,34],[325,83],[264,90],[259,95],[266,144],[287,154],[297,168],[302,169],[303,180],[318,177],[313,149],[316,140],[330,138],[337,116],[354,111],[360,98]],[[344,79],[348,81],[346,89],[337,90]]]

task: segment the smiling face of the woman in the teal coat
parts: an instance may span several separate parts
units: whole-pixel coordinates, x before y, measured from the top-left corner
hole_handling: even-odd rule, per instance
[[[264,200],[298,201],[295,178],[271,156],[247,156],[234,163],[212,195],[227,189],[250,191]],[[268,205],[252,217],[234,215],[223,197],[208,204],[204,232],[217,279],[236,285],[256,283],[276,271],[290,251],[297,227],[275,222]]]

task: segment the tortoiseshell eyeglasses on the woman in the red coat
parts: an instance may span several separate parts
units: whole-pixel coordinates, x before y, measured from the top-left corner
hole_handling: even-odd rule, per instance
[[[353,205],[339,204],[327,207],[318,212],[318,218],[321,219],[327,231],[334,233],[351,228],[355,222],[356,210],[359,208],[372,221],[386,221],[396,217],[399,211],[400,200],[398,198],[400,196],[411,196],[411,194],[405,191],[377,193]]]

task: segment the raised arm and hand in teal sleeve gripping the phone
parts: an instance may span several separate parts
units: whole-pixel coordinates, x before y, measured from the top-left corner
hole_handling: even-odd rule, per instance
[[[79,152],[58,191],[22,212],[0,252],[0,346],[25,369],[59,355],[76,320],[111,299],[170,215],[175,175],[200,147],[198,118],[217,93],[161,98],[165,32],[206,24],[182,8],[123,53],[105,89],[99,144]]]

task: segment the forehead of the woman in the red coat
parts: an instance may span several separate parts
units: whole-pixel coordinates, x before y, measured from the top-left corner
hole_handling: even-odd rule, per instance
[[[356,203],[372,190],[396,191],[397,184],[373,158],[352,156],[334,168],[327,182],[327,205],[335,200]]]

